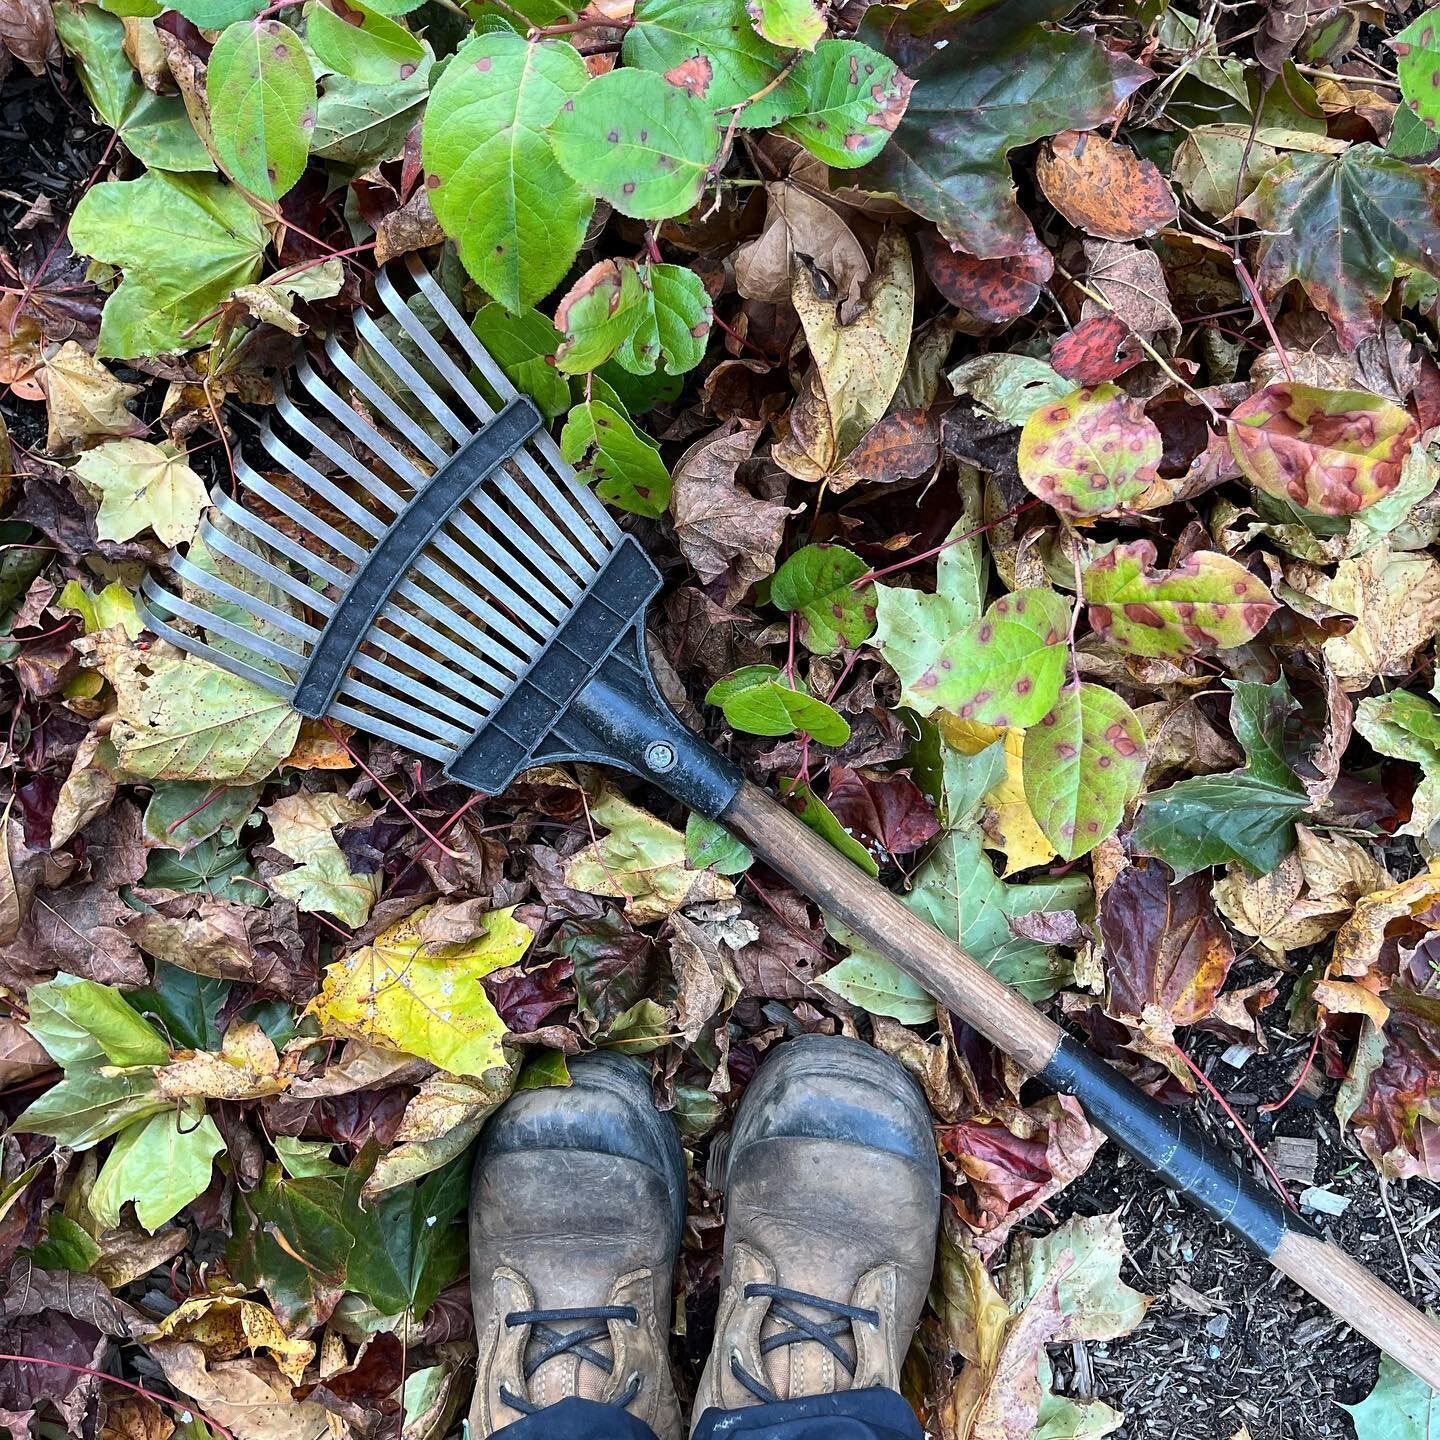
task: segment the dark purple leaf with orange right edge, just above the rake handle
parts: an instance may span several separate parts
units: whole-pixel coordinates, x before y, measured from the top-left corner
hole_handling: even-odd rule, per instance
[[[1172,880],[1156,861],[1128,865],[1100,903],[1106,1012],[1161,1041],[1210,1017],[1236,959],[1210,877]]]

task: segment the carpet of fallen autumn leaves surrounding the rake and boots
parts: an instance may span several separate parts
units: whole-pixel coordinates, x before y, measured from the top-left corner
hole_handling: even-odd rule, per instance
[[[262,9],[0,16],[7,1414],[442,1440],[488,1115],[615,1047],[698,1175],[818,1030],[935,1112],[933,1433],[1424,1434],[716,827],[465,795],[132,596],[348,338],[347,217],[422,252],[635,517],[685,717],[1434,1305],[1440,12]]]

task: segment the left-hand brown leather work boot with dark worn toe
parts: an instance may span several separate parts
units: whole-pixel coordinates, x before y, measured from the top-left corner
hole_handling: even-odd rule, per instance
[[[586,1056],[570,1079],[507,1100],[475,1158],[469,1433],[579,1397],[680,1440],[667,1356],[685,1212],[680,1133],[635,1061]]]

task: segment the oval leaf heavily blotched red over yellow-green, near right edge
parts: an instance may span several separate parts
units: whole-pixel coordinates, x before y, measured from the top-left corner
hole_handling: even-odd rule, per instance
[[[1322,516],[1352,516],[1388,495],[1420,433],[1390,400],[1313,384],[1267,384],[1230,419],[1246,478]]]

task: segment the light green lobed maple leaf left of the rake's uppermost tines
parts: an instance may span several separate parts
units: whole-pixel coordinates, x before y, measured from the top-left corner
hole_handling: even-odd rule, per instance
[[[266,235],[233,186],[151,170],[86,192],[69,240],[124,269],[101,314],[96,353],[135,359],[204,344],[215,331],[206,315],[259,279]]]

